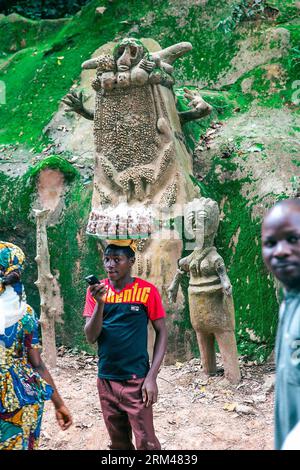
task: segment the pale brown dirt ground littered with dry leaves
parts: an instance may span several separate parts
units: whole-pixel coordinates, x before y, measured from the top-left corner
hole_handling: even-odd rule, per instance
[[[272,449],[274,365],[241,361],[242,382],[207,378],[199,359],[162,367],[154,406],[157,436],[166,450]],[[40,449],[107,449],[96,388],[97,359],[60,349],[52,375],[74,425],[61,431],[47,402]]]

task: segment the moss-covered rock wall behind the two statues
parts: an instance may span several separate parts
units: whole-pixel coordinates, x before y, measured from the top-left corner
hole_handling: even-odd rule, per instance
[[[136,36],[152,37],[161,47],[193,44],[175,65],[178,105],[187,105],[184,86],[198,86],[214,107],[210,117],[184,129],[194,182],[220,204],[216,245],[233,283],[239,351],[263,360],[272,350],[278,302],[261,259],[260,225],[275,200],[299,195],[300,9],[299,2],[270,0],[252,15],[252,4],[92,1],[68,20],[0,16],[0,237],[25,250],[28,300],[39,311],[32,204],[43,165],[60,169],[65,209],[48,229],[51,268],[59,273],[64,299],[58,342],[87,347],[83,278],[102,268],[97,241],[85,235],[90,154],[87,159],[80,146],[76,155],[60,146],[59,133],[69,132],[68,123],[76,131],[77,124],[66,116],[59,125],[57,112],[69,89],[80,88],[84,60],[109,41]],[[99,6],[106,8],[102,15],[95,14]],[[198,354],[188,307],[170,338],[178,358]]]

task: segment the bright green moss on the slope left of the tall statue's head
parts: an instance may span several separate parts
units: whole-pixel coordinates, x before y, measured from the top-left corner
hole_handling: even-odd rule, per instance
[[[131,11],[129,6],[109,5],[102,16],[95,15],[96,6],[98,1],[91,2],[54,37],[24,49],[0,70],[0,79],[6,85],[6,104],[0,107],[0,143],[24,143],[39,149],[43,128],[78,79],[81,63],[111,41],[117,31],[129,29],[120,25]]]

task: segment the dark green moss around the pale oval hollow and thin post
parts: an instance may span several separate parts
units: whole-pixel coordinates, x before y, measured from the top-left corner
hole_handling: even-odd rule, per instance
[[[57,325],[58,343],[77,345],[91,352],[83,334],[82,310],[86,290],[84,277],[91,273],[101,276],[103,273],[98,242],[85,235],[92,185],[84,186],[72,165],[55,155],[39,162],[19,178],[9,178],[0,173],[0,239],[14,242],[24,250],[27,256],[24,285],[28,303],[39,314],[39,294],[34,285],[37,279],[34,261],[36,239],[31,204],[36,196],[37,175],[45,168],[62,171],[67,184],[65,211],[59,223],[47,230],[51,270],[59,273],[64,300],[64,324]]]

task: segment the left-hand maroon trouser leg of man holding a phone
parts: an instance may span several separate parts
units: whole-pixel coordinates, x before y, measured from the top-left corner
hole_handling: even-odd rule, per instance
[[[127,413],[119,407],[122,384],[123,382],[112,382],[98,378],[98,393],[103,419],[111,439],[111,450],[134,450]]]

